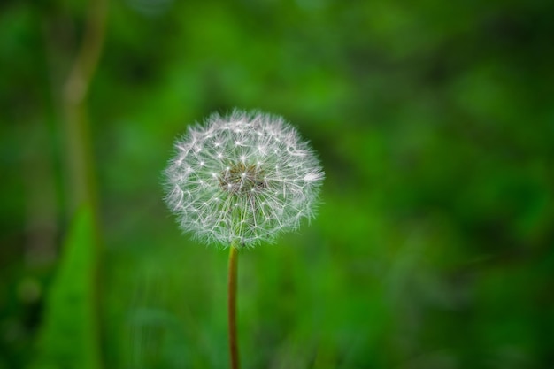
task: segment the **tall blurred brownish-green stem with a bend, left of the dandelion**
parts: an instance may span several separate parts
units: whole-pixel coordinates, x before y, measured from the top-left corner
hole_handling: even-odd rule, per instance
[[[98,222],[98,204],[96,195],[96,165],[92,150],[92,138],[88,124],[88,91],[96,72],[98,61],[104,46],[108,0],[89,0],[87,19],[80,49],[77,51],[73,65],[67,75],[61,91],[61,104],[64,120],[67,158],[67,173],[69,174],[69,214],[73,216],[77,209],[88,207],[91,215],[93,238],[88,244],[91,258],[96,261],[88,273],[91,285],[90,294],[94,304],[87,318],[90,324],[88,342],[94,346],[98,360],[94,369],[103,365],[100,331],[100,286],[99,269],[101,263],[101,234]],[[69,252],[65,250],[65,252]],[[86,312],[88,313],[88,311]]]

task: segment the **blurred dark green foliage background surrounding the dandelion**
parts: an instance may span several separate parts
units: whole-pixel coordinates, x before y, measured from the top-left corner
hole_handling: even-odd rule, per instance
[[[0,4],[0,369],[227,367],[227,252],[160,181],[234,107],[327,174],[240,254],[243,368],[554,367],[554,3],[96,1]]]

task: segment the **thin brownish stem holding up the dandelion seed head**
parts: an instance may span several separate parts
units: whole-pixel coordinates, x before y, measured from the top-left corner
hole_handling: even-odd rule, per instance
[[[228,323],[229,323],[229,358],[231,369],[239,368],[239,350],[236,340],[236,272],[238,267],[238,250],[235,242],[229,248],[229,275],[228,275]]]

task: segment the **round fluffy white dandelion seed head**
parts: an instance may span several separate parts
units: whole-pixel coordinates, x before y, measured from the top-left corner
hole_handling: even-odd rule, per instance
[[[325,174],[308,142],[281,117],[212,114],[175,148],[165,201],[199,241],[254,246],[314,216]]]

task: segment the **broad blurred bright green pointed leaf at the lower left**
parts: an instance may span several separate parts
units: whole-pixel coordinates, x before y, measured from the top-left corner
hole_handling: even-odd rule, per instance
[[[32,368],[97,369],[96,234],[92,212],[73,219],[44,311],[38,355]]]

